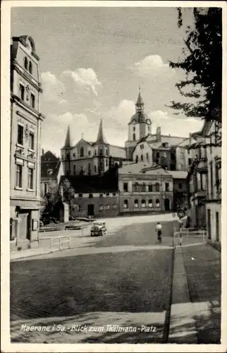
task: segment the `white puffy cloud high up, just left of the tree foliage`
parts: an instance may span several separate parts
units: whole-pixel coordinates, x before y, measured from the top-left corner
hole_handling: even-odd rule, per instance
[[[149,55],[145,59],[130,66],[130,70],[141,77],[161,76],[171,77],[175,72],[168,64],[165,64],[159,55]]]

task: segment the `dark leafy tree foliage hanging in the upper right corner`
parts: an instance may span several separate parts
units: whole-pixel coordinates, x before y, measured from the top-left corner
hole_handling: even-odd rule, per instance
[[[221,124],[222,23],[221,8],[193,8],[195,27],[186,30],[184,58],[170,61],[171,68],[185,71],[185,79],[176,83],[185,102],[171,101],[171,106],[186,116],[200,117]],[[178,8],[178,27],[183,12]],[[187,90],[188,89],[188,90]],[[195,102],[188,102],[193,98]]]

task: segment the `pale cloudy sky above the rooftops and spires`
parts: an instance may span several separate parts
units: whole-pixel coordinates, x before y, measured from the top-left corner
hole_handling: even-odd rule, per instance
[[[175,115],[166,107],[182,97],[182,71],[168,61],[183,58],[191,9],[177,26],[176,8],[17,7],[11,9],[11,36],[35,40],[42,77],[42,148],[60,155],[70,124],[73,143],[95,141],[102,118],[107,142],[123,146],[141,87],[152,132],[187,137],[200,119]]]

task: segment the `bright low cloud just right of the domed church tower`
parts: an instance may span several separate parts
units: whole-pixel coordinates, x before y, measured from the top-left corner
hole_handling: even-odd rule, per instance
[[[148,115],[152,120],[152,133],[155,133],[157,126],[161,126],[164,135],[188,137],[190,132],[199,131],[203,125],[201,119],[171,116],[161,110],[149,112]]]

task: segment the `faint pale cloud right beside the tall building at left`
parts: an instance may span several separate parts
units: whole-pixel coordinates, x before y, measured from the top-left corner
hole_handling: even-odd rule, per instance
[[[66,102],[66,100],[63,100],[62,98],[66,92],[66,86],[58,80],[53,73],[50,73],[49,71],[43,72],[41,78],[44,92],[42,100],[59,104]]]

